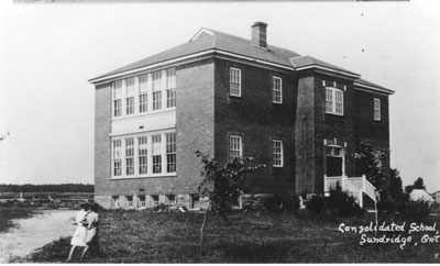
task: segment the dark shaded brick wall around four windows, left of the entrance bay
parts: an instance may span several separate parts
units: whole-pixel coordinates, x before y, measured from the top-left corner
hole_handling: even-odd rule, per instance
[[[229,95],[229,69],[241,69],[242,97]],[[272,102],[272,77],[283,79],[283,104]],[[248,192],[295,189],[295,100],[292,74],[216,59],[216,159],[229,159],[229,135],[242,136],[243,156],[267,167],[250,176]],[[272,140],[283,141],[284,167],[272,166]]]

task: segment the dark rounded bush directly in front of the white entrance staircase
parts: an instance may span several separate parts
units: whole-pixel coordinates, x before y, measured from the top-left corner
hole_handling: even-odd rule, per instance
[[[341,188],[330,191],[327,206],[333,214],[340,217],[352,217],[363,213],[362,208],[356,203],[354,197],[349,196]]]

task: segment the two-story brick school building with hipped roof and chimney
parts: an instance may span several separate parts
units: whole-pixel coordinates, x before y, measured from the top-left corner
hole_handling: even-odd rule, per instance
[[[90,80],[96,86],[96,201],[106,208],[158,202],[197,208],[201,164],[252,156],[267,167],[253,192],[322,193],[351,178],[360,142],[389,147],[392,90],[311,56],[201,29],[188,43]],[[362,197],[361,197],[362,198]]]

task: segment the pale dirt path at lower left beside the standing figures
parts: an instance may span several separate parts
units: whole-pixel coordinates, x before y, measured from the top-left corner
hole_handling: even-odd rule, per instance
[[[75,230],[70,218],[76,211],[72,210],[37,210],[29,219],[13,220],[19,228],[0,233],[0,263],[8,263],[24,257],[54,240],[69,236]]]

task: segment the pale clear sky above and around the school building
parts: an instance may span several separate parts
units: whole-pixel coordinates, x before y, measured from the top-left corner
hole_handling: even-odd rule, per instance
[[[11,1],[12,2],[12,1]],[[188,42],[202,26],[311,55],[396,91],[391,163],[440,190],[440,4],[0,3],[0,184],[94,182],[87,80]]]

